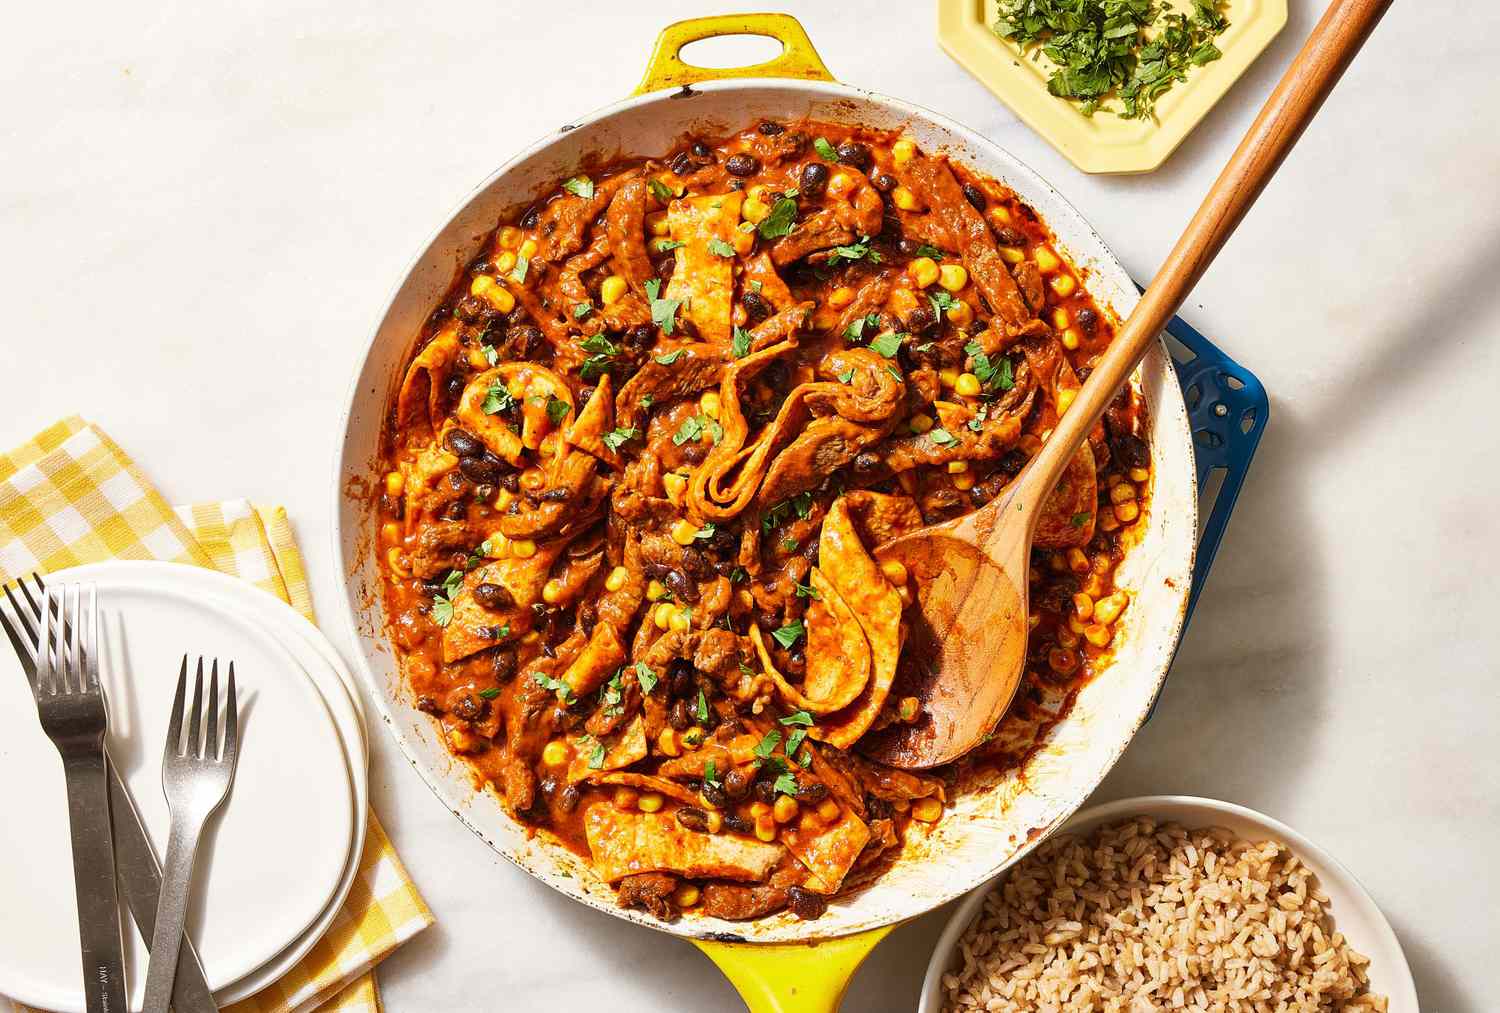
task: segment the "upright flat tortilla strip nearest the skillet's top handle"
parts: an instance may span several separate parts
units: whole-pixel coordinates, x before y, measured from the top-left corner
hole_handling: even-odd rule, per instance
[[[676,248],[676,267],[663,299],[682,300],[682,315],[704,341],[728,342],[729,311],[735,296],[735,258],[722,257],[710,243],[734,248],[744,194],[682,197],[668,206],[666,224]]]

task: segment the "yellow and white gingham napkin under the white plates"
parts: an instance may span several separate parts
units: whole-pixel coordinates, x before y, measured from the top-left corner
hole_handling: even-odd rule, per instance
[[[172,509],[110,437],[78,417],[0,456],[0,581],[110,558],[216,569],[312,618],[280,507],[231,500]],[[370,812],[358,876],[327,935],[280,981],[228,1008],[378,1011],[375,965],[429,924],[432,912]]]

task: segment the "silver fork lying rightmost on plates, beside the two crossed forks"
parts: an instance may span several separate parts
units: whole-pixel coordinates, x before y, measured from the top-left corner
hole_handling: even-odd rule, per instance
[[[225,696],[224,749],[219,749],[219,660],[213,660],[208,681],[208,716],[202,722],[202,659],[194,680],[192,714],[188,717],[188,741],[183,743],[183,704],[188,693],[188,656],[177,675],[177,696],[166,728],[166,749],[162,755],[162,791],[171,810],[171,833],[166,837],[166,861],[162,872],[162,897],[156,905],[156,930],[152,933],[152,960],[146,968],[144,1013],[166,1013],[172,998],[172,977],[177,951],[188,917],[188,893],[192,884],[198,840],[208,816],[224,804],[234,782],[234,765],[240,758],[238,711],[234,698],[234,662],[230,662],[230,687]],[[201,746],[201,749],[200,749]]]

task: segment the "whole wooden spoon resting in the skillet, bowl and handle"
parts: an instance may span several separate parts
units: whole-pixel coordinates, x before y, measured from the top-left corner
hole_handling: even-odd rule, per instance
[[[876,551],[916,581],[903,654],[922,702],[915,723],[868,735],[861,750],[896,767],[934,767],[988,735],[1026,663],[1028,564],[1047,495],[1161,329],[1296,144],[1390,0],[1335,0],[1270,93],[1234,156],[1038,453],[974,513]],[[910,675],[908,675],[910,678]]]

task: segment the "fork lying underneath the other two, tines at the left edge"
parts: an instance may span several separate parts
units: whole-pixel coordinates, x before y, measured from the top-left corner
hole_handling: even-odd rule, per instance
[[[40,573],[32,573],[33,588],[26,581],[14,581],[0,585],[6,602],[15,617],[6,615],[0,606],[0,627],[4,629],[15,648],[15,656],[21,662],[21,669],[27,680],[36,683],[36,645],[42,624],[42,597],[46,584]],[[21,599],[26,605],[21,605]],[[68,629],[64,626],[64,629]],[[162,888],[162,867],[152,849],[141,812],[135,806],[135,798],[120,779],[120,771],[110,759],[110,746],[105,743],[105,767],[110,777],[110,824],[114,827],[114,858],[116,881],[124,900],[135,915],[135,924],[141,933],[150,936],[156,926],[156,900]],[[218,1013],[219,1007],[208,990],[204,978],[202,963],[194,950],[192,939],[183,939],[182,956],[177,959],[177,983],[172,986],[172,1007],[177,1013]]]

